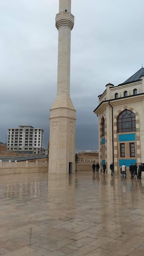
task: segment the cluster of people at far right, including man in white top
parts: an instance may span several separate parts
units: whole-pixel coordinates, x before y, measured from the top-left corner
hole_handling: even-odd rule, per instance
[[[136,177],[138,179],[141,180],[141,172],[144,171],[144,163],[141,163],[139,165],[139,168],[138,168],[138,165],[137,163],[131,163],[130,167],[129,167],[129,170],[130,170],[130,173],[131,173],[131,179],[134,179],[134,176],[136,175]],[[122,178],[124,179],[124,174],[125,174],[125,179],[126,179],[126,166],[125,166],[125,163],[123,163],[122,165]]]

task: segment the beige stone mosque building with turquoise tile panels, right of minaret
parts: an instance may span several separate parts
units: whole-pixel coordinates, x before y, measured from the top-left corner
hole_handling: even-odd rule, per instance
[[[99,163],[105,162],[107,173],[111,171],[109,166],[114,162],[115,174],[121,173],[121,166],[125,163],[127,170],[131,162],[138,165],[144,162],[144,68],[141,68],[139,79],[132,76],[130,82],[124,82],[118,86],[106,85],[106,90],[99,95],[99,105],[94,113],[99,118]],[[129,80],[128,80],[129,81]],[[134,119],[123,119],[129,121],[134,127],[128,127],[130,123],[118,124],[121,113],[131,113]],[[113,120],[112,120],[113,114]],[[126,117],[126,116],[125,116]],[[103,120],[105,123],[105,134],[103,134]],[[135,121],[132,121],[135,120]],[[119,126],[118,126],[119,125]],[[119,129],[122,125],[123,129]],[[122,149],[123,147],[123,149]],[[132,148],[133,147],[133,148]]]

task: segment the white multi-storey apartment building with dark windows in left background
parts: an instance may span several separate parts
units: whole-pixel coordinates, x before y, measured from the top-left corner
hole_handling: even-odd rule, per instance
[[[42,154],[44,130],[31,125],[8,129],[7,151]]]

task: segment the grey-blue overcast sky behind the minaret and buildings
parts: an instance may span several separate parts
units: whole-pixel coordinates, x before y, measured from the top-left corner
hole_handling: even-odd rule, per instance
[[[57,91],[58,7],[59,0],[0,1],[2,142],[7,128],[32,125],[44,129],[47,145],[49,109]],[[143,0],[72,0],[71,98],[78,152],[98,149],[93,111],[105,85],[124,82],[144,62],[143,10]]]

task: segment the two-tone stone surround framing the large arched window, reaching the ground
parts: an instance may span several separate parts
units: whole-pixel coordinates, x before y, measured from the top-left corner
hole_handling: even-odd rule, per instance
[[[117,171],[117,117],[120,115],[121,112],[123,112],[125,109],[128,109],[132,111],[135,114],[135,120],[136,120],[136,148],[137,148],[137,160],[138,162],[141,162],[140,159],[140,129],[139,129],[139,114],[138,112],[130,107],[130,106],[124,106],[123,108],[119,109],[113,118],[113,133],[114,133],[114,166],[115,170]]]

